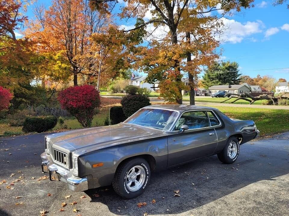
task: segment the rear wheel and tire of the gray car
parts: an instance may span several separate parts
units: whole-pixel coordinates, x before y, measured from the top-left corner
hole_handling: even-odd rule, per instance
[[[222,152],[217,155],[219,160],[224,164],[233,164],[239,156],[239,151],[240,144],[238,139],[236,137],[230,137]]]

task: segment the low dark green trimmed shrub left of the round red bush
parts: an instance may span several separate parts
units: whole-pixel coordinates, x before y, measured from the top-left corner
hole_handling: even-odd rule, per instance
[[[28,133],[29,132],[41,133],[54,128],[56,124],[57,124],[56,116],[30,117],[25,119],[22,131]]]

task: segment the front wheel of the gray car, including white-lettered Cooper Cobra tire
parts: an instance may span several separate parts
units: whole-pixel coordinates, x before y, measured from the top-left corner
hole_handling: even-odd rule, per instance
[[[112,186],[115,192],[132,199],[141,195],[151,177],[151,169],[143,158],[134,158],[121,164],[114,175]]]

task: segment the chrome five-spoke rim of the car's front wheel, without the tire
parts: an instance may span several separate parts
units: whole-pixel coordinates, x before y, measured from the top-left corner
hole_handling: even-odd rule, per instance
[[[145,171],[142,166],[132,167],[126,176],[126,187],[130,191],[136,191],[141,188],[145,181]]]

